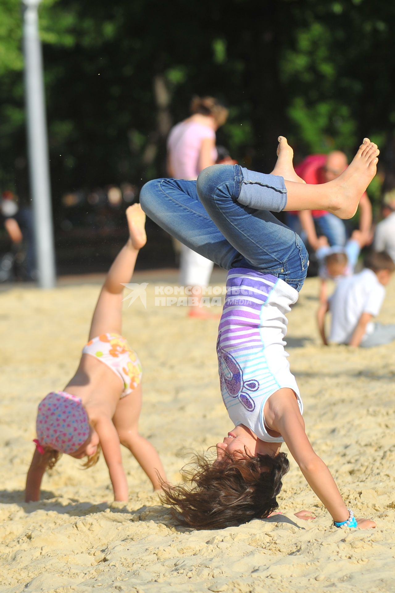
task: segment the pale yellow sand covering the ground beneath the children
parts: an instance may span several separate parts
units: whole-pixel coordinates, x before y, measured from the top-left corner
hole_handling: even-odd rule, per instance
[[[75,371],[98,289],[23,287],[0,297],[0,591],[395,591],[395,344],[320,346],[316,279],[307,280],[289,315],[291,369],[314,449],[357,516],[374,518],[377,529],[332,527],[293,460],[279,497],[284,515],[225,530],[176,527],[128,452],[126,506],[111,504],[102,459],[84,471],[67,456],[44,478],[43,500],[23,502],[36,406]],[[231,428],[219,393],[218,322],[154,307],[152,283],[147,294],[147,310],[136,302],[125,308],[124,334],[144,368],[141,432],[178,481],[190,452]],[[394,282],[379,319],[395,323]],[[300,509],[317,518],[297,519]]]

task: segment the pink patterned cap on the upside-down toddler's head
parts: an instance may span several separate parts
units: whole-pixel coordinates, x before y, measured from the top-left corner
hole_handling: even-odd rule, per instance
[[[73,453],[91,432],[88,414],[79,397],[65,391],[52,391],[38,404],[38,451],[51,447],[62,453]]]

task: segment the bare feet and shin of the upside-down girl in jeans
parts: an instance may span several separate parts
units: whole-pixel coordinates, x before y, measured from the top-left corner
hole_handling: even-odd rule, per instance
[[[376,174],[377,157],[380,154],[377,145],[365,138],[351,164],[339,177],[319,185],[301,185],[300,177],[293,169],[293,151],[287,139],[280,136],[278,140],[278,161],[272,174],[284,177],[287,188],[284,210],[322,209],[339,218],[354,216],[362,194]],[[293,176],[297,178],[291,178]]]

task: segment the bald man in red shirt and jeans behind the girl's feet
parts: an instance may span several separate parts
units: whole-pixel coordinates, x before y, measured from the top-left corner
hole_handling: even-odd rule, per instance
[[[306,183],[319,184],[332,181],[347,167],[347,157],[344,152],[332,151],[329,154],[314,154],[306,157],[295,168],[296,173]],[[346,228],[344,222],[325,210],[311,210],[288,212],[287,225],[296,232],[304,231],[305,237],[314,250],[317,248],[317,231],[325,235],[330,246],[344,246],[346,243]],[[368,242],[372,224],[372,206],[367,193],[359,202],[359,230]],[[317,229],[317,230],[316,230]]]

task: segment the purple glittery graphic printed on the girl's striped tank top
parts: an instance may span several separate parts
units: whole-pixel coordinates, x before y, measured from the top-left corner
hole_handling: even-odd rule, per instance
[[[237,397],[246,410],[253,412],[255,410],[255,401],[246,392],[258,390],[259,382],[255,379],[243,380],[242,368],[236,359],[220,346],[220,339],[221,334],[219,334],[217,340],[221,393],[226,390],[230,397]]]

